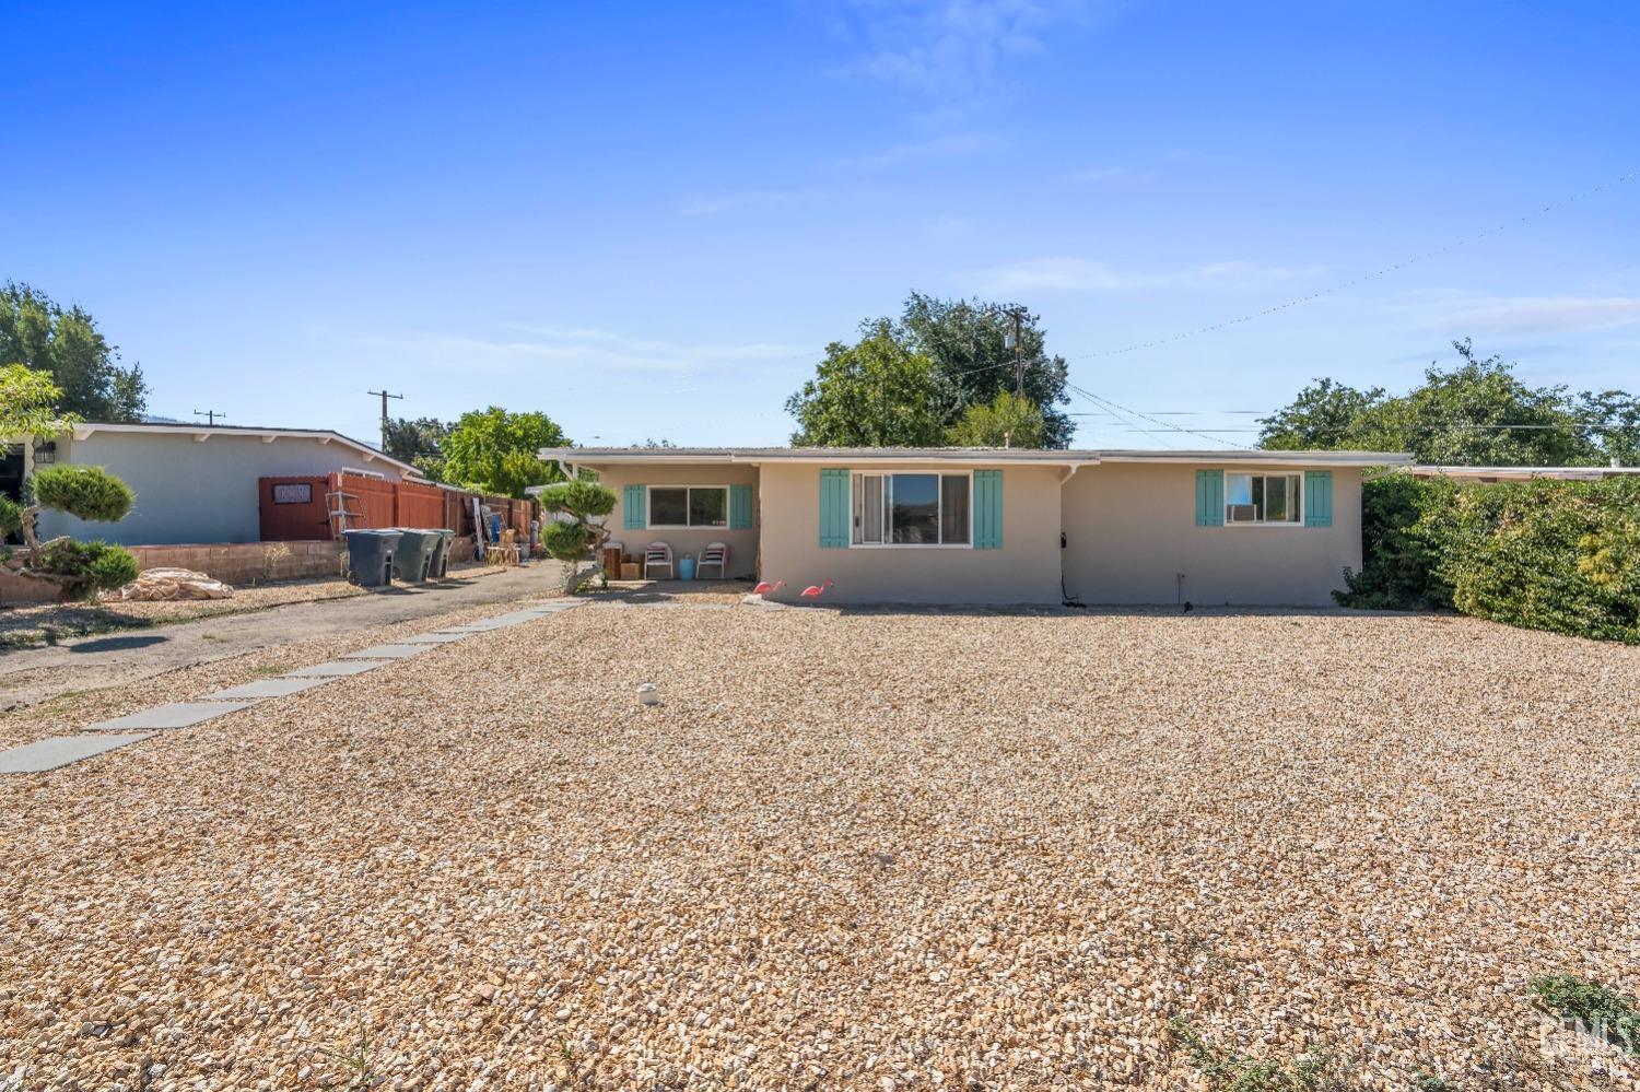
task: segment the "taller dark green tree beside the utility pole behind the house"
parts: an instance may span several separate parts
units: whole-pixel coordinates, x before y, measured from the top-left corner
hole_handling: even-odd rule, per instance
[[[905,300],[895,338],[935,362],[946,426],[956,425],[969,407],[989,405],[1004,390],[1014,390],[1014,349],[1007,344],[1014,330],[1012,310],[1022,308],[981,300],[936,300],[922,292],[912,292]],[[1069,402],[1064,394],[1069,369],[1063,356],[1048,356],[1036,321],[1035,315],[1023,316],[1020,346],[1023,394],[1041,412],[1043,430],[1035,444],[1015,439],[1014,446],[1068,448],[1076,423],[1055,407]]]

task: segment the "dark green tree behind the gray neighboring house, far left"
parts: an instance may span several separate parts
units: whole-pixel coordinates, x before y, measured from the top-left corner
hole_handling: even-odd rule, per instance
[[[116,346],[80,307],[62,308],[26,284],[0,287],[0,361],[21,361],[62,389],[54,407],[93,421],[134,421],[148,407],[136,364],[120,367]]]

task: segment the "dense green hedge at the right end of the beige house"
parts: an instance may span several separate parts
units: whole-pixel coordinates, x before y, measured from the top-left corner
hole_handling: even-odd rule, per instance
[[[1368,480],[1363,566],[1345,584],[1345,607],[1640,644],[1640,480]]]

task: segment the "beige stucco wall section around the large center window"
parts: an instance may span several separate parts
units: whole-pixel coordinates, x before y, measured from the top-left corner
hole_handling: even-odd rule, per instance
[[[915,474],[941,467],[892,469]],[[822,549],[820,467],[764,464],[763,579],[792,585],[772,597],[782,600],[831,577],[836,587],[822,603],[1058,603],[1061,474],[1056,467],[1002,467],[1002,549]]]

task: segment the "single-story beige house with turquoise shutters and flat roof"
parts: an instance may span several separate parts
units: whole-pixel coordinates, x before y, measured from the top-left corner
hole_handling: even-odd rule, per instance
[[[610,485],[641,554],[843,603],[1330,605],[1361,566],[1363,451],[546,448]]]

